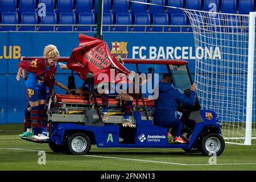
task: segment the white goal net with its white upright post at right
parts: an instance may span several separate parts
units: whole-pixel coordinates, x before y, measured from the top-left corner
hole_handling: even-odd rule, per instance
[[[254,41],[249,48],[249,40],[255,39],[255,32],[249,38],[249,15],[182,10],[195,38],[195,80],[202,109],[218,114],[226,142],[250,144],[250,137],[255,137],[256,54]],[[255,20],[250,26],[255,31]]]

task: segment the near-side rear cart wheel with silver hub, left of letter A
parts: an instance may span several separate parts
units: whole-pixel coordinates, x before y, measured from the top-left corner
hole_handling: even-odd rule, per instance
[[[87,154],[90,150],[90,145],[90,139],[84,133],[75,133],[68,138],[68,151],[71,154]]]

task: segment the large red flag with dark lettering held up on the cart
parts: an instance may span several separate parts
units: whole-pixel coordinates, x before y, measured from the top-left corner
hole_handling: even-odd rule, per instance
[[[110,53],[108,44],[104,40],[79,34],[79,42],[79,47],[73,49],[67,66],[69,69],[76,71],[82,80],[86,80],[87,73],[92,72],[94,75],[94,84],[101,82],[101,80],[97,79],[100,73],[106,73],[108,75],[108,82],[119,82],[120,79],[110,76],[110,69],[115,69],[115,75],[117,73],[124,73],[125,75],[130,73]]]

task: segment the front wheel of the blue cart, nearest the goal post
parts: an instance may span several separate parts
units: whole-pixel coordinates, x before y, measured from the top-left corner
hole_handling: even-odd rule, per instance
[[[201,142],[201,153],[209,156],[210,154],[221,155],[225,148],[225,141],[218,133],[205,135]]]

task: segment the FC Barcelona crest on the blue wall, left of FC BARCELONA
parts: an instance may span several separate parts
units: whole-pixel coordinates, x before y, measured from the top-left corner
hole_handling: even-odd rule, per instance
[[[111,42],[112,49],[111,53],[115,57],[127,58],[127,42]]]

